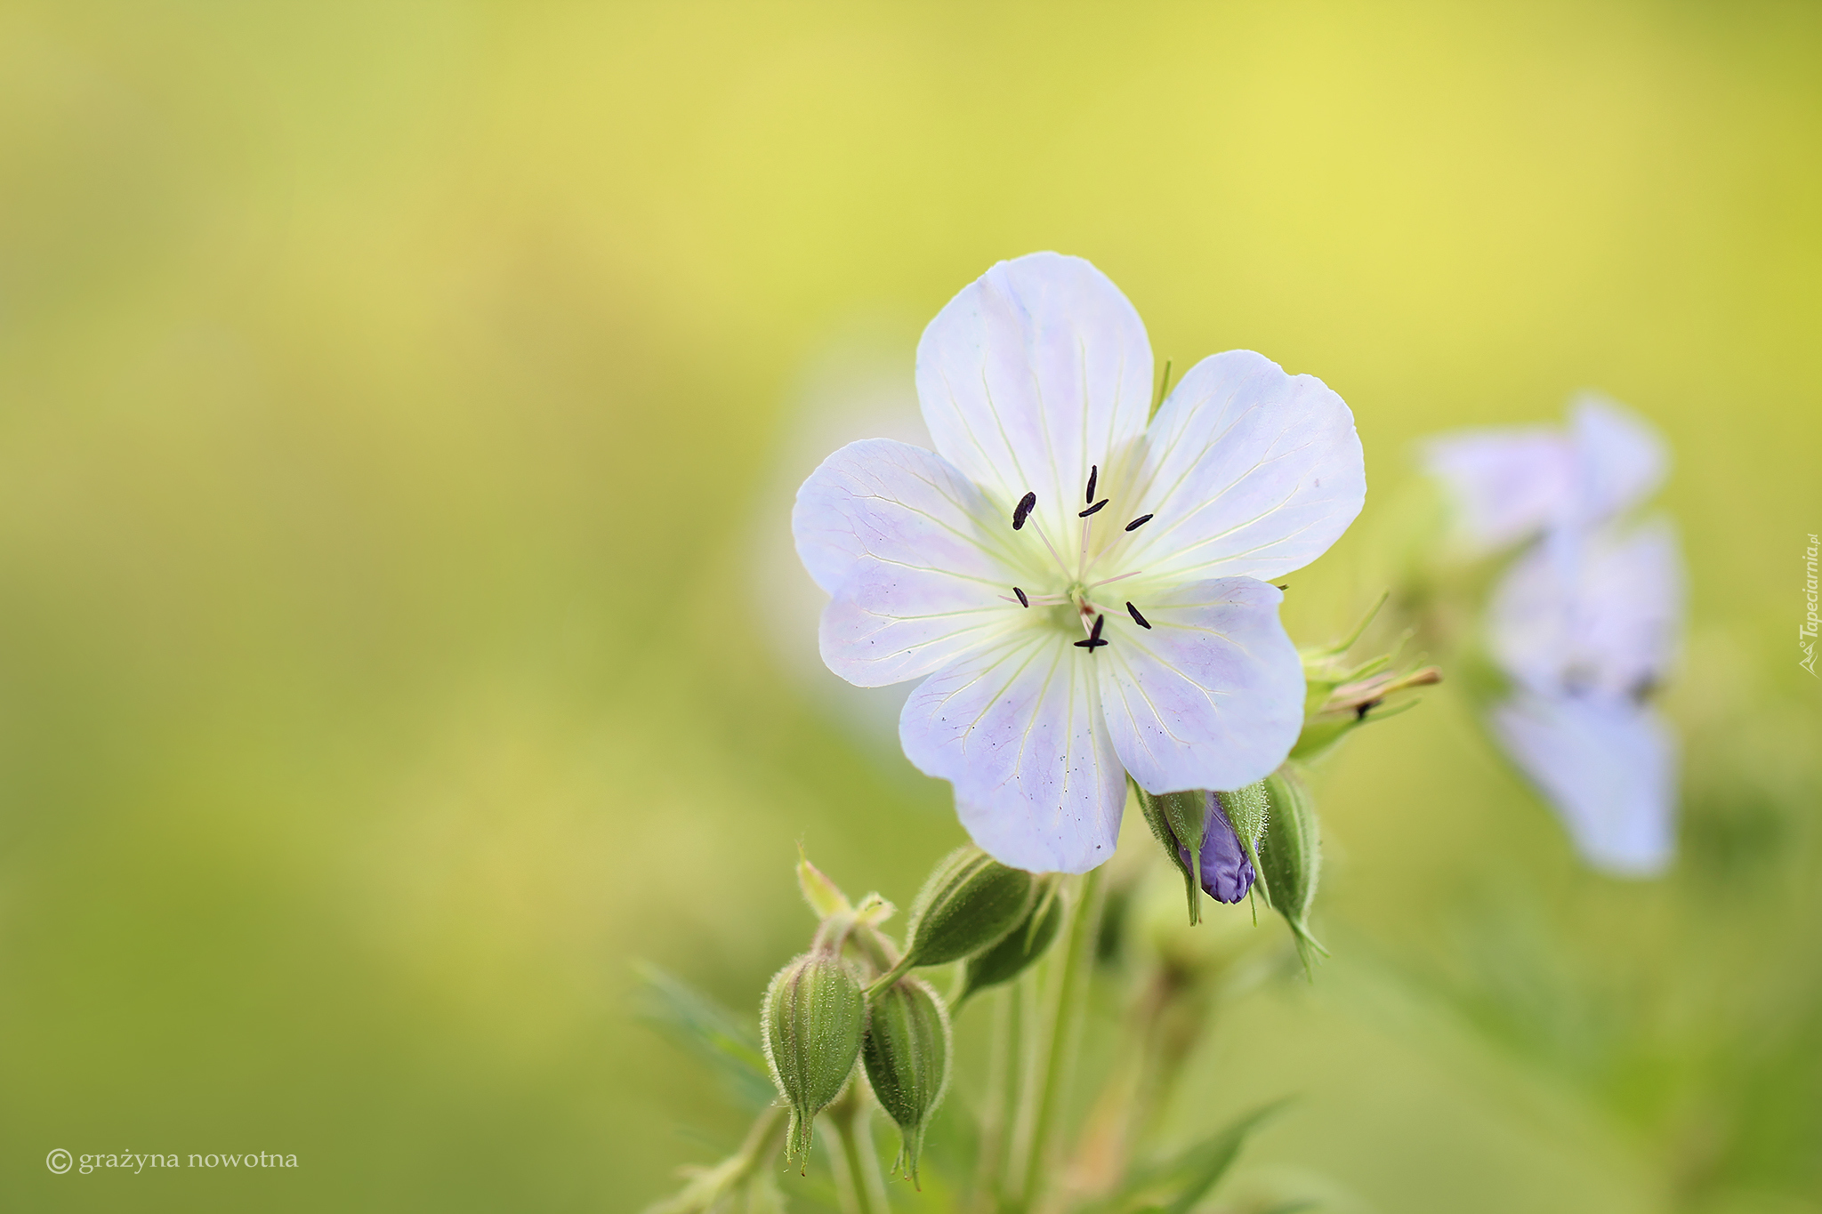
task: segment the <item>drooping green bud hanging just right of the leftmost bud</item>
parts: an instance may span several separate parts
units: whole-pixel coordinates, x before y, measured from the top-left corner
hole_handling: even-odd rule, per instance
[[[924,1128],[949,1087],[949,1012],[937,992],[922,979],[900,977],[875,996],[860,1057],[875,1099],[898,1123],[895,1167],[916,1183]]]

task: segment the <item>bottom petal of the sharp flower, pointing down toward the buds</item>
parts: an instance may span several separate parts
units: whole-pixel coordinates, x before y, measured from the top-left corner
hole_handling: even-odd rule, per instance
[[[1100,723],[1095,661],[1062,632],[1024,632],[906,701],[906,755],[955,784],[967,834],[1004,865],[1088,872],[1113,855],[1126,774]]]

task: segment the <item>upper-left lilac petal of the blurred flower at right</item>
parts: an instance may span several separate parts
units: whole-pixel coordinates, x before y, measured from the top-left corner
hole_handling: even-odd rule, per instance
[[[1569,497],[1569,444],[1554,430],[1469,430],[1432,439],[1423,466],[1443,482],[1472,551],[1540,531]]]

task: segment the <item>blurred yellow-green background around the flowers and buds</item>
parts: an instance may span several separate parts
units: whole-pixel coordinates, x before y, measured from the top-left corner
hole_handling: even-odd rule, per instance
[[[1813,4],[5,4],[5,1205],[632,1210],[720,1154],[632,959],[751,1007],[798,839],[900,901],[960,839],[773,644],[767,486],[831,349],[907,389],[1053,248],[1354,408],[1305,641],[1416,437],[1594,386],[1678,451],[1678,870],[1587,875],[1443,688],[1323,774],[1336,961],[1181,1116],[1303,1092],[1248,1167],[1334,1209],[1822,1209],[1818,62]]]

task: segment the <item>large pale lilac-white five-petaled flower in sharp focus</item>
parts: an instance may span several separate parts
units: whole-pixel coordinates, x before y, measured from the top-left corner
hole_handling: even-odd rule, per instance
[[[906,755],[1020,868],[1108,859],[1128,774],[1239,788],[1283,763],[1305,686],[1268,579],[1365,504],[1354,415],[1321,380],[1228,351],[1148,424],[1152,375],[1099,269],[1000,262],[918,342],[937,451],[853,442],[798,491],[824,661],[862,686],[924,679]]]

